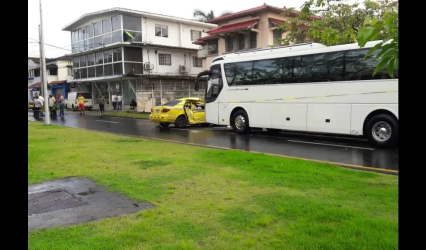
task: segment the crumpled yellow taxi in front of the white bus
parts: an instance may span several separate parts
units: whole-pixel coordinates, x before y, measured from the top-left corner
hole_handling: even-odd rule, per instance
[[[151,108],[149,120],[166,127],[174,123],[176,127],[187,124],[206,124],[204,102],[200,98],[188,97],[172,100]]]

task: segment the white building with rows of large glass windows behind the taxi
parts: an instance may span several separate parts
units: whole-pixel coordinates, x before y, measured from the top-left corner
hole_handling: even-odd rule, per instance
[[[73,82],[79,91],[123,94],[123,104],[137,90],[188,89],[203,70],[192,42],[216,24],[110,8],[84,14],[63,27],[70,31]]]

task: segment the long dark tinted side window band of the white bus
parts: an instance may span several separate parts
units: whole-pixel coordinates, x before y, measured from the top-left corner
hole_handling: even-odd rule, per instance
[[[228,85],[262,85],[343,80],[389,79],[387,68],[372,76],[379,50],[364,59],[369,48],[225,63]],[[398,78],[398,71],[394,71]]]

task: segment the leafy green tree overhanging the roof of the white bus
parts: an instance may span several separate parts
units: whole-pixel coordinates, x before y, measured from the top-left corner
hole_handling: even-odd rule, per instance
[[[386,65],[391,74],[398,67],[398,0],[347,2],[306,1],[300,14],[279,26],[283,31],[290,31],[286,38],[279,41],[284,45],[319,42],[328,46],[359,42],[363,47],[369,40],[383,39],[383,43],[390,40],[388,44],[380,43],[373,47],[368,55],[381,47],[382,50],[376,55],[379,64],[374,74]],[[285,14],[290,11],[294,9],[287,9]],[[312,15],[322,19],[313,19]]]

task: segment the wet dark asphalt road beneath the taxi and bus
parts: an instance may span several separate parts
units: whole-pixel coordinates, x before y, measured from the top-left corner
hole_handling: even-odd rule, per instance
[[[28,112],[29,120],[35,120],[32,116],[33,113]],[[43,118],[39,121],[43,121]],[[373,171],[383,169],[380,172],[398,173],[394,171],[398,170],[398,148],[372,148],[366,140],[358,138],[284,132],[279,135],[270,135],[266,131],[237,134],[231,128],[217,126],[188,126],[181,129],[170,125],[170,127],[164,128],[149,120],[100,115],[81,116],[77,112],[67,112],[63,118],[52,119],[52,123],[112,133],[328,161],[355,168],[357,168],[356,166],[366,166],[372,168],[360,167],[360,169]],[[391,172],[386,169],[391,169]]]

